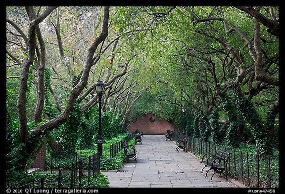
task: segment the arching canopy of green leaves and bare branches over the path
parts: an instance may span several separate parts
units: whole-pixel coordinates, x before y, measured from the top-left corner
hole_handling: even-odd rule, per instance
[[[81,111],[97,104],[97,80],[106,85],[102,111],[120,125],[147,112],[178,124],[182,106],[218,109],[254,126],[257,142],[270,139],[279,112],[279,7],[6,7],[7,115],[19,121],[26,152],[75,103]]]

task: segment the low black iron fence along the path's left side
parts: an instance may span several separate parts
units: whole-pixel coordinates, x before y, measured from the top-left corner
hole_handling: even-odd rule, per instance
[[[110,146],[108,150],[103,147],[104,151],[109,152],[109,160],[115,157],[123,148],[122,143],[128,143],[134,138],[134,134],[138,131],[128,134],[121,141],[116,142]],[[91,176],[95,176],[99,172],[97,153],[89,157],[82,157],[81,149],[79,148],[79,155],[77,152],[71,153],[70,155],[64,155],[65,158],[69,158],[71,164],[63,168],[59,168],[62,159],[59,159],[59,155],[51,153],[50,161],[47,162],[46,169],[42,170],[40,174],[42,177],[38,180],[30,182],[21,186],[20,188],[47,188],[47,187],[69,187],[69,188],[80,188],[88,187],[90,184]],[[60,156],[62,158],[62,156]]]

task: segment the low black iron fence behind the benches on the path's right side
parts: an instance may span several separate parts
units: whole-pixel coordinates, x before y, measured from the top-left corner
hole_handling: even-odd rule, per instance
[[[171,130],[167,130],[167,133],[172,133],[171,138],[174,141],[185,137],[183,134]],[[238,179],[248,187],[279,187],[279,156],[261,156],[193,137],[189,137],[186,149],[198,158],[206,153],[214,154],[216,149],[227,150],[231,153],[228,162],[230,177]]]

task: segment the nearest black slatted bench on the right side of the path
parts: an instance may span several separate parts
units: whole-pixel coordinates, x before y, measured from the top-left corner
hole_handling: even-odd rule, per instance
[[[222,173],[228,180],[227,164],[230,159],[230,153],[218,149],[215,152],[215,154],[207,153],[203,155],[201,163],[203,163],[205,166],[202,168],[201,173],[205,167],[209,167],[210,169],[206,172],[205,176],[207,176],[210,170],[214,170],[214,174],[219,173],[221,175]],[[226,173],[224,173],[224,171]],[[213,180],[214,174],[212,175],[211,180]]]

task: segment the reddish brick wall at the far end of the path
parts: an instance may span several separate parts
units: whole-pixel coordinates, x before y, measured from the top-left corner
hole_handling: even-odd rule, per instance
[[[154,122],[150,122],[149,118],[154,117]],[[130,123],[128,132],[134,132],[136,129],[144,134],[165,134],[166,129],[177,131],[177,127],[173,122],[167,120],[158,120],[155,115],[148,113],[144,116],[137,116],[137,121]]]

